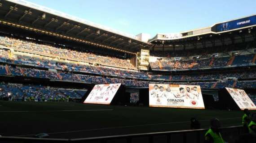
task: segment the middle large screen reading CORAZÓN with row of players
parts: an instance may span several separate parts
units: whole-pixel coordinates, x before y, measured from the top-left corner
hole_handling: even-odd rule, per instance
[[[204,109],[199,85],[149,84],[149,105]]]

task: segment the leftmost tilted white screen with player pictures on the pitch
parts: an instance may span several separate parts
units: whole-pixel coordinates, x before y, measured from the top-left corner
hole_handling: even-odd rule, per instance
[[[85,99],[84,103],[110,104],[121,84],[98,84]]]

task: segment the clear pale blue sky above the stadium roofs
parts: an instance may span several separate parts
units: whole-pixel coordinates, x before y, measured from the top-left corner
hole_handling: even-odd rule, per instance
[[[256,14],[256,0],[27,0],[124,33],[179,33]],[[214,2],[213,2],[214,1]]]

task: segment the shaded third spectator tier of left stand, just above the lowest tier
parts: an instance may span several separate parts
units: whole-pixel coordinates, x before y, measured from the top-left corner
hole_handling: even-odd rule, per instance
[[[6,68],[8,67],[8,71]],[[110,83],[123,83],[127,86],[132,87],[148,87],[148,82],[141,80],[129,80],[124,78],[110,78],[103,76],[91,76],[91,75],[81,75],[74,74],[66,71],[45,71],[33,68],[25,68],[25,67],[12,67],[12,66],[3,66],[0,65],[0,69],[3,69],[3,75],[12,75],[12,76],[27,76],[34,78],[44,78],[44,79],[53,79],[53,80],[66,80],[66,81],[74,81],[74,82],[85,82],[85,83],[93,83],[93,84],[110,84]],[[8,74],[9,73],[9,74]]]

